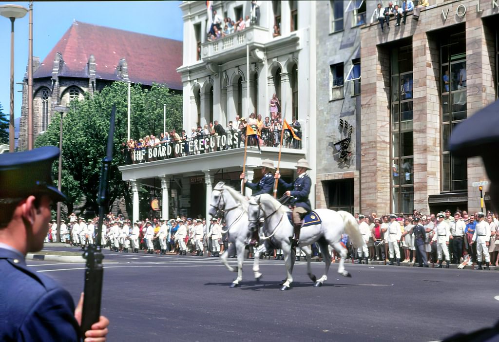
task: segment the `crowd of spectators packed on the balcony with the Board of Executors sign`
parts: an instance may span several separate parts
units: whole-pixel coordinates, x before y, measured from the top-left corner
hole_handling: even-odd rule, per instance
[[[218,121],[214,121],[204,125],[204,127],[192,127],[189,133],[182,130],[179,134],[176,130],[171,130],[170,132],[162,132],[159,136],[150,134],[137,140],[130,139],[122,143],[121,153],[125,164],[136,164],[158,159],[235,149],[244,147],[247,126],[250,126],[256,132],[256,136],[249,137],[248,146],[278,147],[280,146],[282,124],[281,114],[277,111],[271,110],[270,117],[266,116],[264,119],[262,119],[261,114],[255,115],[251,113],[248,119],[237,115],[234,121],[229,121],[227,127],[223,127]],[[301,139],[300,122],[293,118],[289,126],[294,134]],[[220,139],[224,136],[226,139]],[[196,144],[194,144],[195,141]],[[301,141],[293,139],[289,129],[284,130],[282,144],[285,148],[301,149]],[[204,148],[194,149],[194,145],[197,147],[203,146]],[[147,150],[157,146],[170,146],[168,150],[170,152],[162,157],[150,158]],[[137,158],[135,152],[144,152],[143,158]]]

